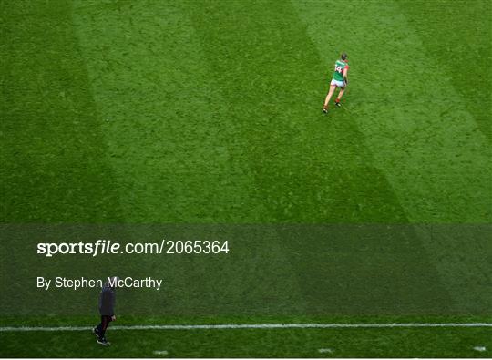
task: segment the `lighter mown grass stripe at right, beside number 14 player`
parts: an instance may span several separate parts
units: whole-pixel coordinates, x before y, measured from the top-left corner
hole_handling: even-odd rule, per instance
[[[330,9],[303,0],[292,4],[327,67],[340,52],[349,54],[351,81],[343,102],[408,220],[489,222],[487,139],[440,60],[425,51],[412,15],[386,2],[349,1]],[[326,16],[352,24],[336,44],[326,41],[333,31]]]

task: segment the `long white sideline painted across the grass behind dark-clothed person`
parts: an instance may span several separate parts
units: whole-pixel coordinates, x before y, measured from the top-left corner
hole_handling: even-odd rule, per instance
[[[215,325],[115,325],[111,330],[200,330],[200,329],[333,329],[372,327],[492,327],[492,323],[388,323],[388,324],[215,324]],[[4,326],[0,332],[86,331],[92,326]]]

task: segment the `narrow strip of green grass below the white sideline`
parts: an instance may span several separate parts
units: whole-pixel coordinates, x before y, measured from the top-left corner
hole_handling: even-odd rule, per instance
[[[149,320],[145,320],[149,322]],[[244,320],[242,320],[244,321]],[[88,331],[8,333],[6,356],[36,357],[477,357],[490,328],[116,330],[114,346]],[[26,346],[29,343],[29,346]],[[74,352],[74,348],[83,351]],[[160,352],[160,353],[159,353]],[[162,354],[162,352],[165,352]],[[167,352],[167,354],[166,354]]]

